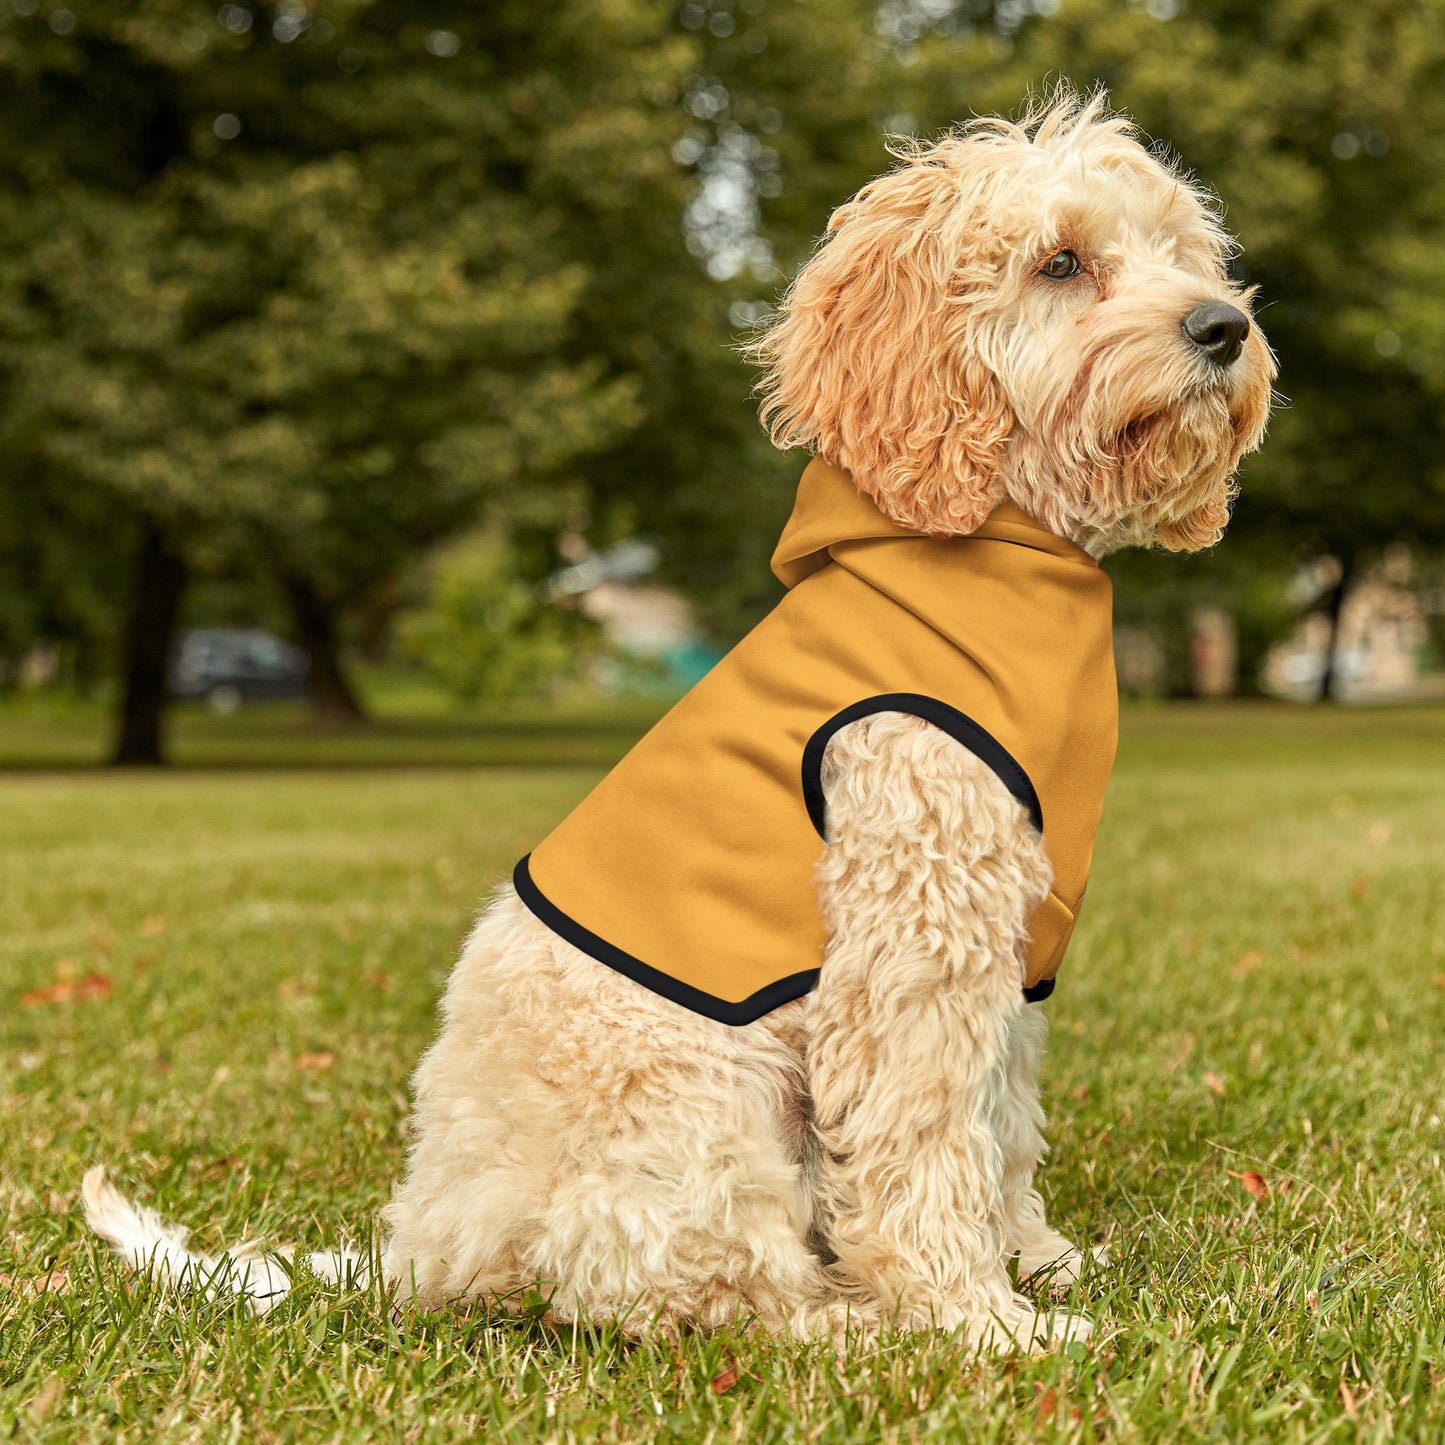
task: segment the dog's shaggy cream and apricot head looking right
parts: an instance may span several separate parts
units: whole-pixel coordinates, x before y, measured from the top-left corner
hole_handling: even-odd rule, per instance
[[[922,532],[1009,497],[1097,555],[1209,546],[1274,376],[1228,256],[1103,97],[974,121],[834,214],[750,348],[764,422]]]

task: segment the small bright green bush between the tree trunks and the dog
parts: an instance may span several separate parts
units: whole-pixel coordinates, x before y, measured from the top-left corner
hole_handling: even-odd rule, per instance
[[[428,565],[425,603],[403,611],[403,652],[461,702],[555,694],[598,656],[595,624],[540,597],[494,533],[461,538]]]

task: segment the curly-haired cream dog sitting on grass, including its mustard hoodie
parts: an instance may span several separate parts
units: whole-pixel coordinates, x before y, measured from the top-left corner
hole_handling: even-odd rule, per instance
[[[1079,1261],[1035,1189],[1026,994],[1113,757],[1097,558],[1215,542],[1264,429],[1228,253],[1195,186],[1068,95],[909,146],[832,217],[754,347],[773,439],[819,458],[792,591],[477,923],[386,1209],[403,1295],[1087,1332],[1007,1273]],[[184,1269],[98,1170],[87,1202]]]

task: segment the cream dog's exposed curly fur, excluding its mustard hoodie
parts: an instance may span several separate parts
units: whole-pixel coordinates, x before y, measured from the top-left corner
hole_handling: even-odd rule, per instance
[[[1101,100],[975,121],[909,146],[834,215],[756,345],[764,418],[920,532],[965,535],[1009,499],[1095,556],[1208,546],[1273,377],[1228,253],[1207,198]],[[386,1209],[402,1296],[540,1282],[561,1319],[665,1334],[738,1316],[832,1338],[1087,1334],[1007,1272],[1010,1256],[1022,1276],[1079,1266],[1035,1188],[1046,1023],[1019,957],[1049,886],[1040,837],[990,767],[896,712],[837,733],[824,788],[821,978],[741,1027],[613,972],[499,892],[415,1078]],[[936,957],[890,952],[900,906],[928,909]],[[987,962],[945,967],[965,955]],[[172,1274],[201,1269],[98,1170],[87,1207],[137,1263],[159,1250]],[[244,1270],[256,1296],[283,1289]]]

